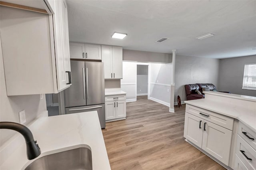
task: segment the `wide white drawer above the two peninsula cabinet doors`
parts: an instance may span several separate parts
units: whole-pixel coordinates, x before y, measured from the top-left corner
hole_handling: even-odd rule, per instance
[[[231,117],[220,115],[218,113],[188,104],[186,104],[186,112],[205,119],[206,121],[220,125],[224,128],[228,128],[229,130],[233,130],[234,119]]]

